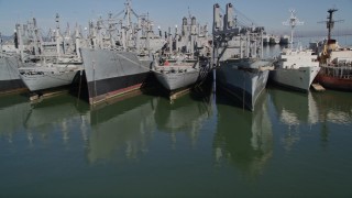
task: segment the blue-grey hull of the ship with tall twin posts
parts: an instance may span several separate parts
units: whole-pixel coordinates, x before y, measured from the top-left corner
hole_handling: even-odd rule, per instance
[[[264,90],[268,70],[260,69],[266,66],[268,62],[255,62],[255,67],[241,68],[235,62],[222,62],[217,70],[218,86],[230,95],[234,96],[243,103],[243,106],[254,111],[254,107],[261,92]]]

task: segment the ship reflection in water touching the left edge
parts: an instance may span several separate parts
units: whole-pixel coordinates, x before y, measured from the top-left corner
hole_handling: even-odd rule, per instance
[[[0,97],[0,138],[12,142],[13,133],[20,132],[31,105],[28,98],[21,95]]]

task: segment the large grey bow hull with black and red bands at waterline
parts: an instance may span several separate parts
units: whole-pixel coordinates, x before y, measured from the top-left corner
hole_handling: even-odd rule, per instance
[[[81,48],[89,103],[140,89],[150,69],[135,53]]]

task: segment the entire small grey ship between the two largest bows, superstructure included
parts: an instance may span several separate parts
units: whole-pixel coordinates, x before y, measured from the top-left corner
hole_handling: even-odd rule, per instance
[[[169,30],[170,31],[170,30]],[[155,58],[154,73],[157,80],[173,95],[200,84],[210,70],[210,45],[207,25],[197,25],[196,18],[183,19],[182,34],[168,33],[168,43]]]

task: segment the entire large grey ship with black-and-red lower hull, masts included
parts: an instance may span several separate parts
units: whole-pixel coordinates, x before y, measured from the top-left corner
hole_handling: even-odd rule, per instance
[[[132,23],[135,12],[130,1],[120,13],[125,20],[109,13],[108,20],[99,19],[96,25],[90,22],[90,46],[80,51],[90,105],[140,89],[150,74],[151,54],[164,45],[147,15],[138,15],[136,24]]]

